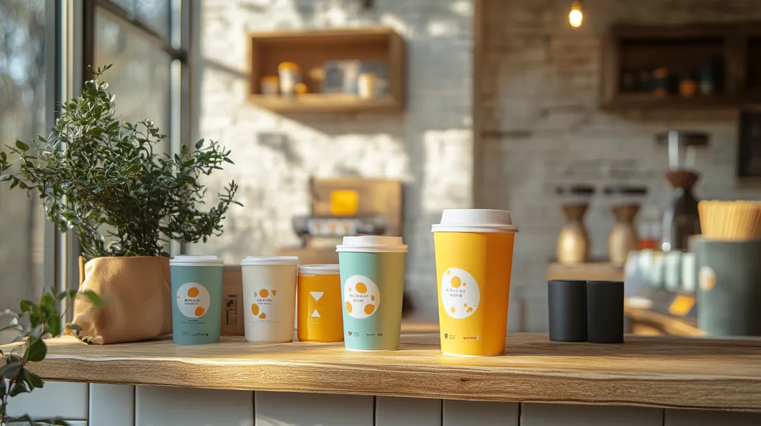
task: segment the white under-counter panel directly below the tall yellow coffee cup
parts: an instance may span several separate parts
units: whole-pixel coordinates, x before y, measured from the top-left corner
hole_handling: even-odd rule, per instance
[[[518,426],[516,402],[444,399],[444,426]]]

